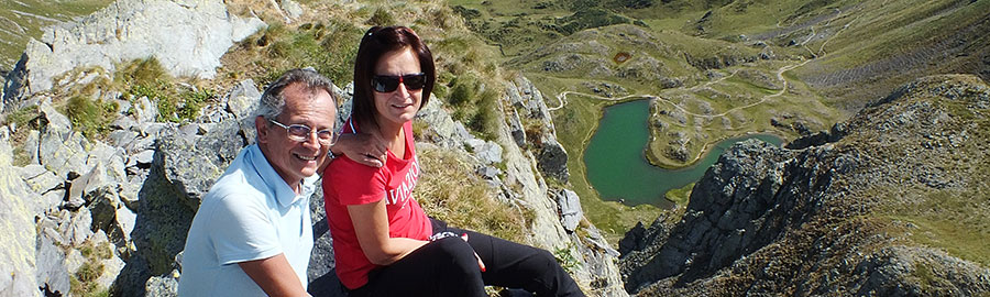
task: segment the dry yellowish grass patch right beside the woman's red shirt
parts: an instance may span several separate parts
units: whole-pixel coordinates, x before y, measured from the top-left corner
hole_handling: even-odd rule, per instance
[[[532,210],[498,200],[496,189],[479,178],[460,155],[443,150],[417,152],[422,176],[417,199],[427,215],[452,227],[526,242]]]

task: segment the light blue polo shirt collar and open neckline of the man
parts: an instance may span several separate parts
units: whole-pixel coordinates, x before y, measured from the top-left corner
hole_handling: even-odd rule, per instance
[[[271,193],[275,194],[275,200],[278,201],[280,207],[288,207],[296,202],[297,199],[312,195],[316,189],[316,182],[320,178],[318,175],[302,178],[302,180],[300,180],[301,194],[296,195],[296,191],[285,183],[285,179],[283,179],[280,175],[278,175],[275,167],[272,167],[272,164],[265,158],[264,153],[262,153],[261,147],[258,147],[257,144],[249,145],[248,150],[248,156],[250,157],[251,163],[254,164],[254,168],[257,169],[257,175],[261,176]]]

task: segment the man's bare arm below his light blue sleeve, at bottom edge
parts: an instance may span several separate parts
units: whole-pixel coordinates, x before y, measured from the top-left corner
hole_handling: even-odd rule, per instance
[[[272,297],[309,296],[296,272],[289,266],[285,254],[238,263],[241,270]]]

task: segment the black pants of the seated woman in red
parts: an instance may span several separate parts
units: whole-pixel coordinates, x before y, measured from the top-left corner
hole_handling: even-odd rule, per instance
[[[432,219],[433,233],[453,232],[369,274],[369,283],[350,296],[476,296],[484,286],[521,288],[537,296],[584,296],[552,254],[495,237],[448,228]],[[460,235],[468,234],[468,242]],[[485,264],[477,265],[474,253]]]

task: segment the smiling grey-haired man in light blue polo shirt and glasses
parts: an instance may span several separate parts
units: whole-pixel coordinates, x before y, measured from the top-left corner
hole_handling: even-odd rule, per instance
[[[231,162],[193,220],[179,296],[308,296],[309,197],[334,140],[331,94],[329,79],[304,69],[265,90],[255,112],[257,142]],[[364,163],[384,154],[370,140],[342,142],[360,147],[353,155]]]

